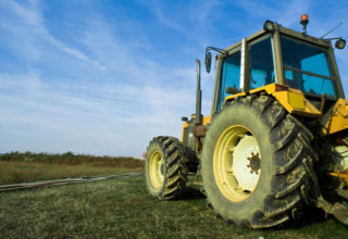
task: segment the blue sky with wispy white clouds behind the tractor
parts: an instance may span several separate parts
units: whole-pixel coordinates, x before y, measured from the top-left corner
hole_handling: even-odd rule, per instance
[[[196,59],[272,20],[348,40],[347,0],[0,0],[0,153],[141,156],[181,138],[195,112]],[[348,53],[335,50],[348,95]],[[210,114],[214,71],[202,71]]]

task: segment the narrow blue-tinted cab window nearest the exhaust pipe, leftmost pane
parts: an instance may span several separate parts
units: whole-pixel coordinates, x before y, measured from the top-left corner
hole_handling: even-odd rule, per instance
[[[221,110],[222,104],[228,93],[226,93],[227,87],[240,88],[240,51],[233,53],[224,60],[222,66],[221,81],[220,81],[220,93],[217,111]]]

